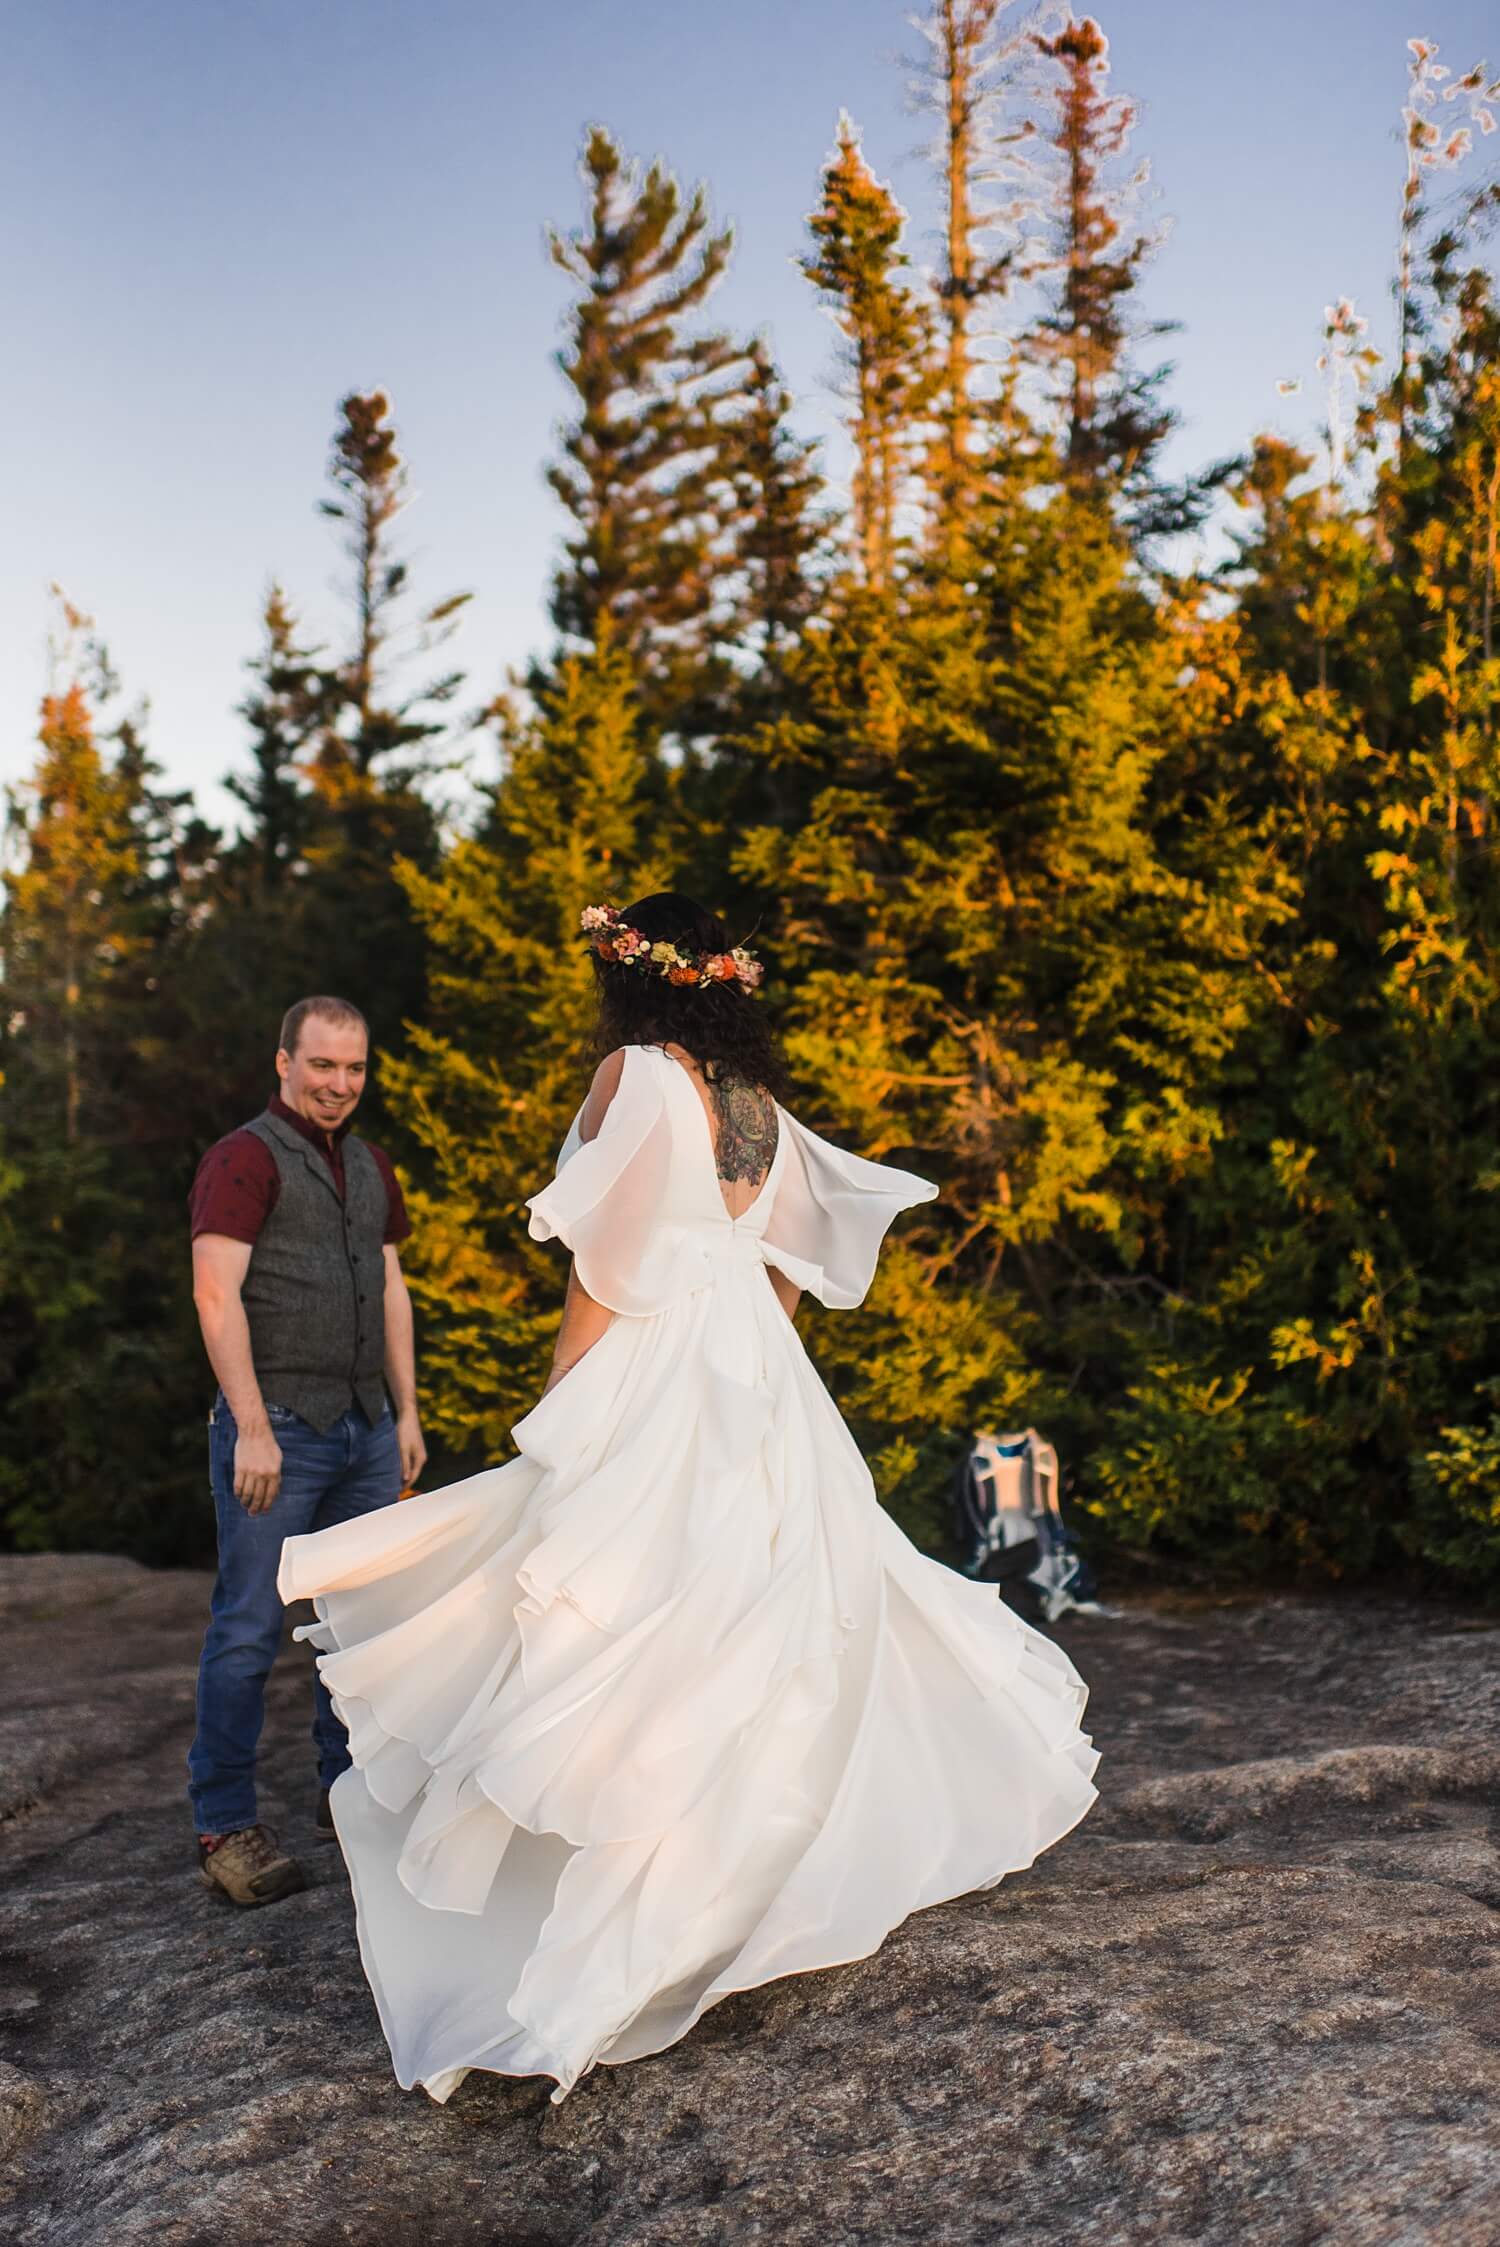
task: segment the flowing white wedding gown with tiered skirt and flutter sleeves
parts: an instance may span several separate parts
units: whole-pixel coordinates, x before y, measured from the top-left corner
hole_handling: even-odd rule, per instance
[[[550,2074],[867,1957],[1076,1825],[1096,1755],[1046,1638],[880,1510],[766,1265],[833,1308],[934,1195],[779,1112],[732,1218],[687,1072],[629,1047],[530,1200],[618,1317],[521,1456],[287,1537],[355,1764],[332,1789],[395,2074]]]

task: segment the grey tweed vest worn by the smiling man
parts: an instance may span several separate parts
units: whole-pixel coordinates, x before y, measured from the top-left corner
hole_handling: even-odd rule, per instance
[[[364,1139],[348,1137],[339,1200],[332,1171],[290,1124],[267,1110],[247,1130],[272,1150],[281,1177],[240,1290],[260,1395],[319,1434],[353,1402],[375,1425],[386,1404],[379,1166]]]

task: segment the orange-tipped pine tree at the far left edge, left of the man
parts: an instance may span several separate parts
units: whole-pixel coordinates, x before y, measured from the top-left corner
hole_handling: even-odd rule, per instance
[[[11,802],[0,1067],[0,1530],[22,1548],[195,1555],[195,1443],[164,1002],[198,836],[65,609]]]

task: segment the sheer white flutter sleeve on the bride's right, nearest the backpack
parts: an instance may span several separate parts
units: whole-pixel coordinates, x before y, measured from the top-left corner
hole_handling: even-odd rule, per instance
[[[766,1220],[763,1256],[829,1310],[853,1310],[876,1276],[894,1218],[936,1200],[914,1171],[847,1155],[781,1110],[788,1137],[781,1182]]]

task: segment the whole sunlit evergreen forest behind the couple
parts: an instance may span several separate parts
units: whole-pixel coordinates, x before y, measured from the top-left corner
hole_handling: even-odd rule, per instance
[[[1031,1422],[1105,1573],[1500,1593],[1500,83],[1410,43],[1320,443],[1183,476],[1107,27],[918,36],[939,249],[849,119],[786,245],[849,472],[714,319],[710,191],[593,128],[525,676],[458,672],[382,391],[310,476],[339,631],[283,584],[245,620],[222,829],[58,595],[4,836],[0,1544],[211,1553],[186,1191],[305,991],[375,1031],[427,1483],[507,1456],[579,908],[680,888],[766,959],[799,1115],[941,1182],[860,1312],[799,1314],[918,1541],[968,1431]]]

